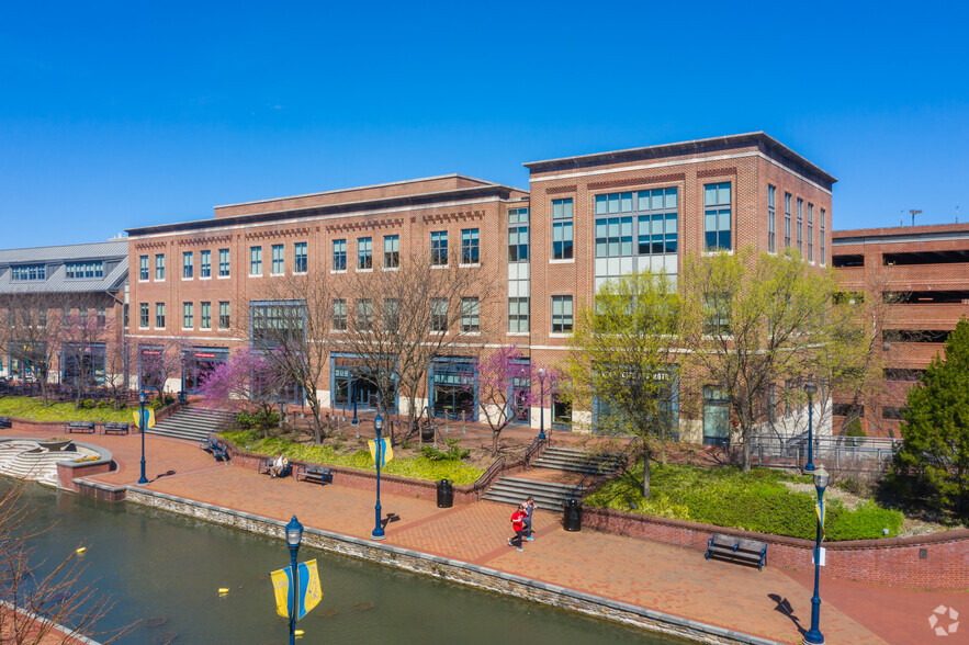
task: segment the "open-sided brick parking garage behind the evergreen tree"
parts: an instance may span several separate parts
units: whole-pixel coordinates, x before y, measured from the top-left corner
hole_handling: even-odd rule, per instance
[[[969,224],[838,230],[832,244],[844,288],[888,301],[880,330],[885,384],[856,414],[868,434],[898,437],[906,391],[969,315]],[[847,408],[836,406],[836,429]]]

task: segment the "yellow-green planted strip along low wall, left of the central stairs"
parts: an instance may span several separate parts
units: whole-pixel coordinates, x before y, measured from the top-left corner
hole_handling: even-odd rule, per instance
[[[369,450],[353,450],[347,440],[331,438],[327,445],[296,443],[281,437],[262,439],[258,431],[244,430],[223,432],[221,437],[228,439],[239,448],[249,452],[275,455],[280,452],[291,460],[301,460],[329,466],[346,466],[369,471],[373,468],[373,459]],[[381,473],[412,477],[414,479],[449,479],[457,486],[473,484],[483,471],[455,460],[429,460],[424,455],[395,459]]]

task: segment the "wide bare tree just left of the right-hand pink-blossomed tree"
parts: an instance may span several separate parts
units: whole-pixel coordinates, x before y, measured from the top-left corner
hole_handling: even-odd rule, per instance
[[[494,318],[483,313],[498,295],[497,278],[484,267],[460,267],[454,258],[442,261],[427,249],[404,254],[397,269],[345,278],[339,302],[330,305],[331,312],[337,307],[345,313],[334,317],[342,328],[333,337],[334,348],[356,357],[384,411],[393,409],[398,389],[407,397],[410,428],[435,358],[478,353]]]

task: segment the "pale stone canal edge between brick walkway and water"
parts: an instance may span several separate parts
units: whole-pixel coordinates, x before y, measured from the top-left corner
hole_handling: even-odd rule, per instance
[[[87,484],[91,484],[87,482]],[[105,487],[109,488],[109,487]],[[168,512],[205,520],[216,524],[269,535],[282,540],[285,522],[262,516],[247,513],[230,508],[193,501],[164,493],[156,493],[135,486],[110,487],[112,493],[126,489],[123,497],[127,501],[161,509]],[[106,493],[106,490],[105,490]],[[780,645],[776,641],[752,636],[716,625],[691,621],[680,616],[635,607],[626,602],[591,596],[507,574],[461,561],[401,548],[388,544],[376,544],[368,540],[341,535],[319,529],[306,528],[303,543],[328,553],[346,555],[358,559],[391,566],[424,576],[429,576],[473,587],[503,596],[523,598],[559,609],[574,611],[593,618],[640,627],[649,632],[676,636],[698,643],[745,645]]]

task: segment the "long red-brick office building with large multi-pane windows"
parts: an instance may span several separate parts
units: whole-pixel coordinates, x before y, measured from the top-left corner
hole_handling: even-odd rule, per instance
[[[590,303],[608,278],[645,269],[677,275],[685,253],[744,246],[797,249],[818,267],[830,258],[836,180],[763,133],[526,167],[530,194],[453,174],[219,206],[213,219],[132,229],[132,346],[156,352],[176,337],[191,343],[180,351],[224,360],[248,339],[221,332],[218,312],[228,315],[253,297],[255,283],[272,280],[270,262],[288,272],[301,257],[304,270],[331,270],[337,252],[353,258],[364,244],[376,258],[388,238],[430,253],[442,236],[458,247],[473,233],[481,263],[500,265],[507,293],[506,302],[482,312],[498,330],[481,344],[516,344],[534,365],[563,358],[575,308]],[[264,263],[260,254],[252,272],[259,253]],[[340,366],[334,361],[324,377],[325,405],[339,398]],[[432,376],[429,382],[432,387]],[[192,385],[184,374],[169,383]],[[554,403],[542,414],[562,426],[590,419]],[[685,438],[706,434],[702,422],[680,427]]]

